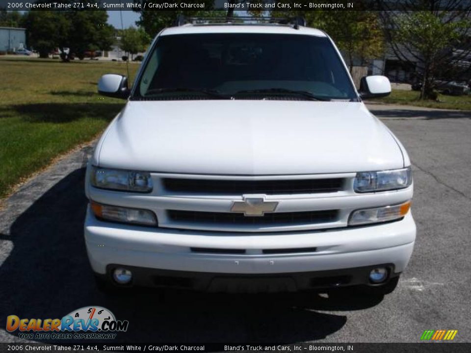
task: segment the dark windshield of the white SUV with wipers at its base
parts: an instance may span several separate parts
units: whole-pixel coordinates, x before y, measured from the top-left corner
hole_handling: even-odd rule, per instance
[[[255,33],[161,36],[134,93],[151,100],[270,96],[357,99],[328,38]]]

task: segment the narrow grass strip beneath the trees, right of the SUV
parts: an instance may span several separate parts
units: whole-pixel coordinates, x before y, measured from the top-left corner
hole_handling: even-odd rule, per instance
[[[388,97],[375,99],[372,101],[415,105],[437,109],[471,110],[471,95],[445,96],[439,94],[438,100],[439,101],[419,101],[419,92],[393,90],[391,95],[389,95]]]

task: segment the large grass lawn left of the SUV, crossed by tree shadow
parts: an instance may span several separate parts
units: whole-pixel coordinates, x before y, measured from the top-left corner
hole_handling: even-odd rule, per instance
[[[138,65],[129,68],[132,79]],[[0,199],[121,110],[125,101],[96,93],[106,73],[126,75],[126,64],[0,57]]]

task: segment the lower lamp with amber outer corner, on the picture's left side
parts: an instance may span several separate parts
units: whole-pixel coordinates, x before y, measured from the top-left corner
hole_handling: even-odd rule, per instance
[[[140,208],[128,208],[90,202],[91,209],[97,218],[106,221],[138,224],[141,226],[157,226],[154,212]]]

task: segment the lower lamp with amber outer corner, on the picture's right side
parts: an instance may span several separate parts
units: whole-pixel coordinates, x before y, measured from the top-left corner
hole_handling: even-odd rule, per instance
[[[366,208],[353,211],[348,220],[349,226],[359,226],[370,223],[388,222],[404,217],[411,208],[411,202],[394,206]]]

